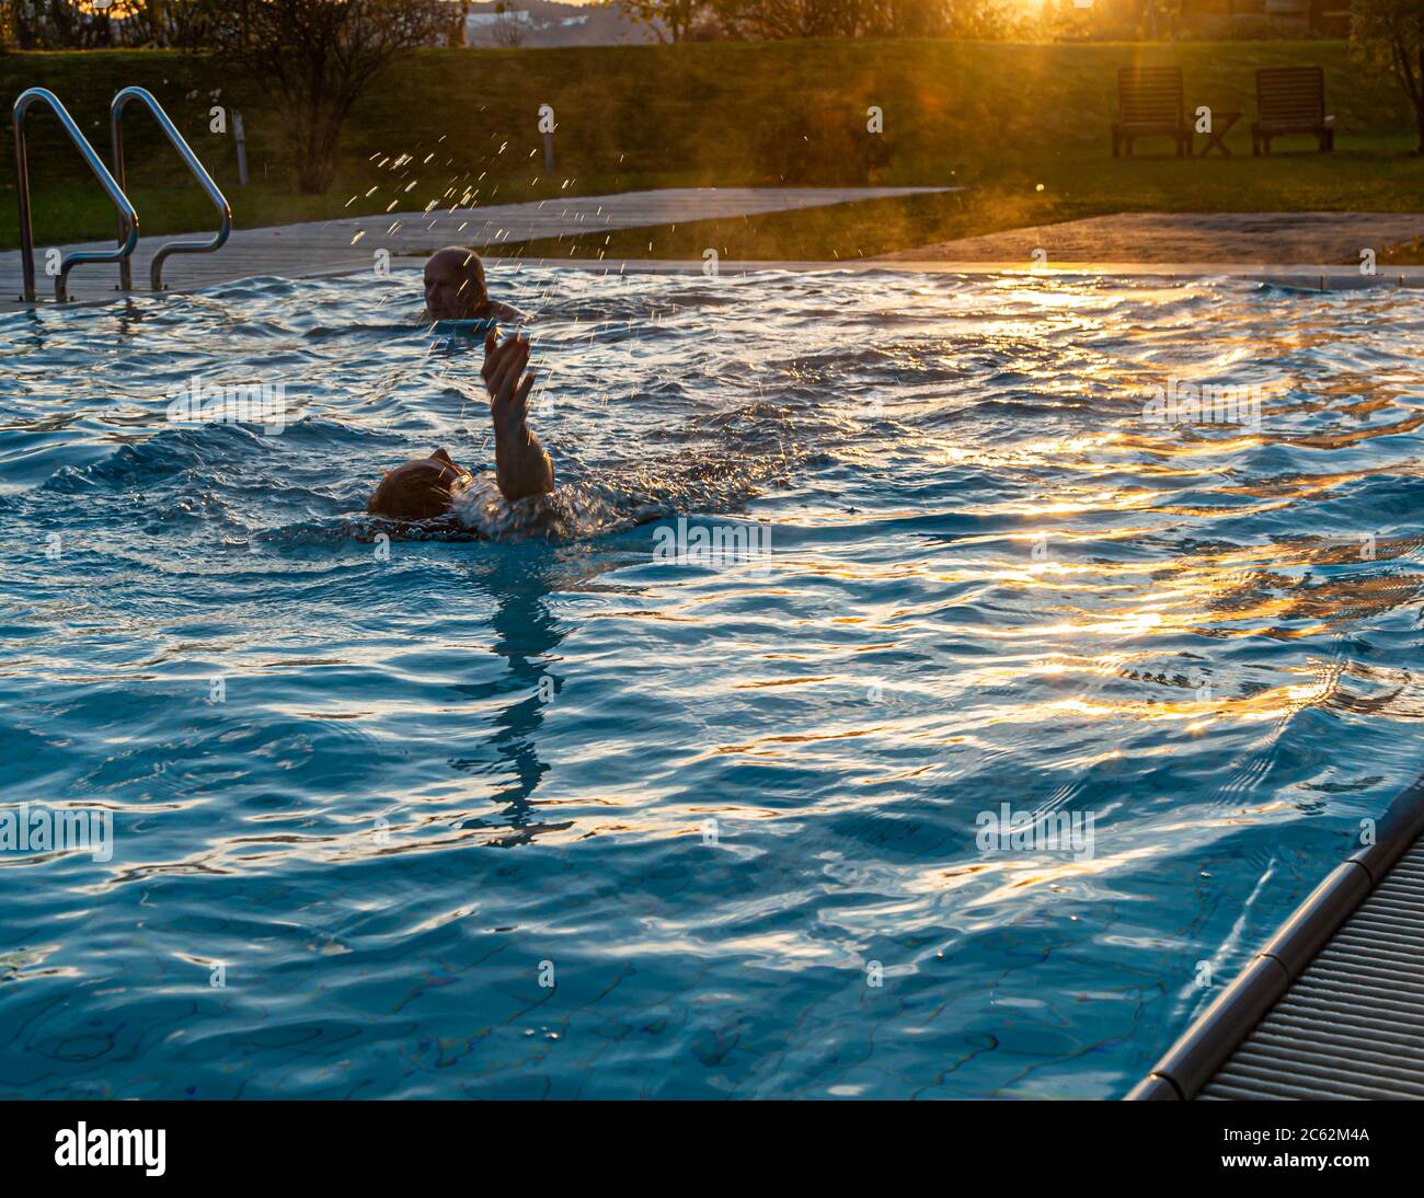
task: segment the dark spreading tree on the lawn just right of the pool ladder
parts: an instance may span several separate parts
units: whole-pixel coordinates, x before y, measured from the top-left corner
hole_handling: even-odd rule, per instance
[[[191,31],[271,92],[296,161],[296,185],[322,195],[352,105],[392,64],[430,44],[449,14],[436,0],[221,0]]]

